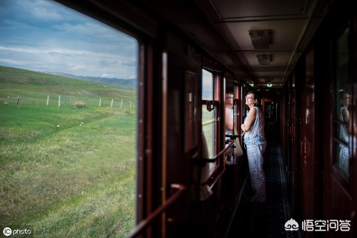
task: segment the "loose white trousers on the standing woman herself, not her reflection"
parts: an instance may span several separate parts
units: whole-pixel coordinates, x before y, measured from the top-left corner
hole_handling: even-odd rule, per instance
[[[247,157],[252,184],[252,201],[265,202],[265,175],[263,171],[263,154],[266,143],[259,145],[247,145]]]

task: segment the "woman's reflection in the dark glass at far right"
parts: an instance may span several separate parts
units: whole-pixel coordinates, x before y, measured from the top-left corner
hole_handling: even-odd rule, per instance
[[[350,94],[347,91],[340,92],[340,120],[348,124],[350,121],[350,113],[347,108],[350,104]],[[348,144],[348,126],[340,125],[340,139]],[[350,158],[350,152],[348,146],[340,143],[340,155],[338,157],[337,165],[348,175],[348,159]]]

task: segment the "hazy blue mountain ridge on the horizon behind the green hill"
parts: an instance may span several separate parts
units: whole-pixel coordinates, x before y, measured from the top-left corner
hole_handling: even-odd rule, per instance
[[[121,86],[121,87],[125,87],[125,88],[135,88],[136,89],[136,79],[77,76],[77,75],[73,75],[73,74],[69,74],[69,73],[49,72],[49,71],[41,71],[41,73],[47,73],[47,74],[62,76],[62,77],[66,77],[66,78],[74,78],[74,79],[80,79],[80,80],[84,80],[84,81],[105,83],[105,84]]]

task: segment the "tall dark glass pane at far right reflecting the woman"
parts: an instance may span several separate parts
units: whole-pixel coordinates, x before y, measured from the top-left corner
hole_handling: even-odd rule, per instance
[[[349,177],[350,160],[350,105],[352,94],[349,92],[349,60],[348,60],[348,29],[342,31],[336,38],[335,44],[335,72],[336,72],[336,108],[335,108],[335,166]]]

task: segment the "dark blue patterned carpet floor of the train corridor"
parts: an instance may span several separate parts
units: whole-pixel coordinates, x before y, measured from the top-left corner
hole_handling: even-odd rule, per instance
[[[299,231],[285,230],[285,223],[294,216],[280,144],[267,144],[263,170],[266,201],[241,202],[227,238],[300,237]]]

